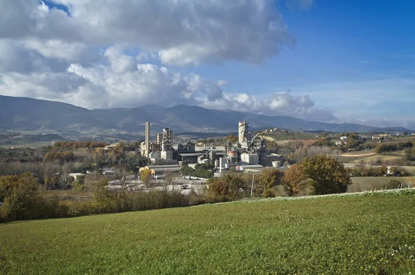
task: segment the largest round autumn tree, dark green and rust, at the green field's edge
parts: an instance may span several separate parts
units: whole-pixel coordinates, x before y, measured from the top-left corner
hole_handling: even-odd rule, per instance
[[[344,193],[352,183],[344,164],[326,155],[306,158],[302,165],[315,195]]]

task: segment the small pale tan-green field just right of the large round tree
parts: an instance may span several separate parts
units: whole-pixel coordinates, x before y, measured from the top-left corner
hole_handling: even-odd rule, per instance
[[[385,185],[390,180],[398,180],[405,184],[405,180],[401,177],[352,177],[351,181],[353,184],[347,188],[348,193],[360,192],[360,191],[371,191],[385,188]],[[415,182],[413,184],[415,187]]]

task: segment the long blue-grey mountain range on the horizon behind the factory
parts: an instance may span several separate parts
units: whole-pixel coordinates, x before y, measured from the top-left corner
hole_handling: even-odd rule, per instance
[[[62,102],[51,102],[29,97],[0,95],[0,129],[33,131],[42,127],[59,131],[100,131],[118,129],[143,132],[145,122],[151,122],[151,131],[170,128],[176,133],[225,133],[237,130],[237,123],[247,120],[251,129],[279,127],[304,131],[389,133],[407,131],[402,127],[385,129],[360,124],[311,122],[286,115],[257,115],[239,111],[219,111],[199,106],[177,105],[161,107],[145,105],[136,108],[89,110]]]

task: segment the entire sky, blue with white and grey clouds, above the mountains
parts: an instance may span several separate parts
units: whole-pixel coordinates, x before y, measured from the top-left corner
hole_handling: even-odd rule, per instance
[[[0,0],[0,95],[415,129],[415,1]]]

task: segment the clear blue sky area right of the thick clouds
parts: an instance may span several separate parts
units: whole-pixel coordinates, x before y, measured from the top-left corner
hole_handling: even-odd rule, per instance
[[[229,91],[310,95],[340,117],[415,117],[415,1],[323,0],[308,10],[279,8],[297,37],[292,49],[260,66],[192,69],[227,79]]]

